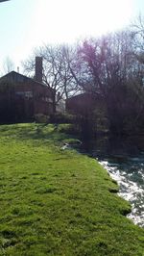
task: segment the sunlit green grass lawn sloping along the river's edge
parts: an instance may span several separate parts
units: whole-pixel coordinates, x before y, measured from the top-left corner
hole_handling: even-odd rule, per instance
[[[65,140],[53,125],[0,126],[0,255],[144,255],[116,183]]]

